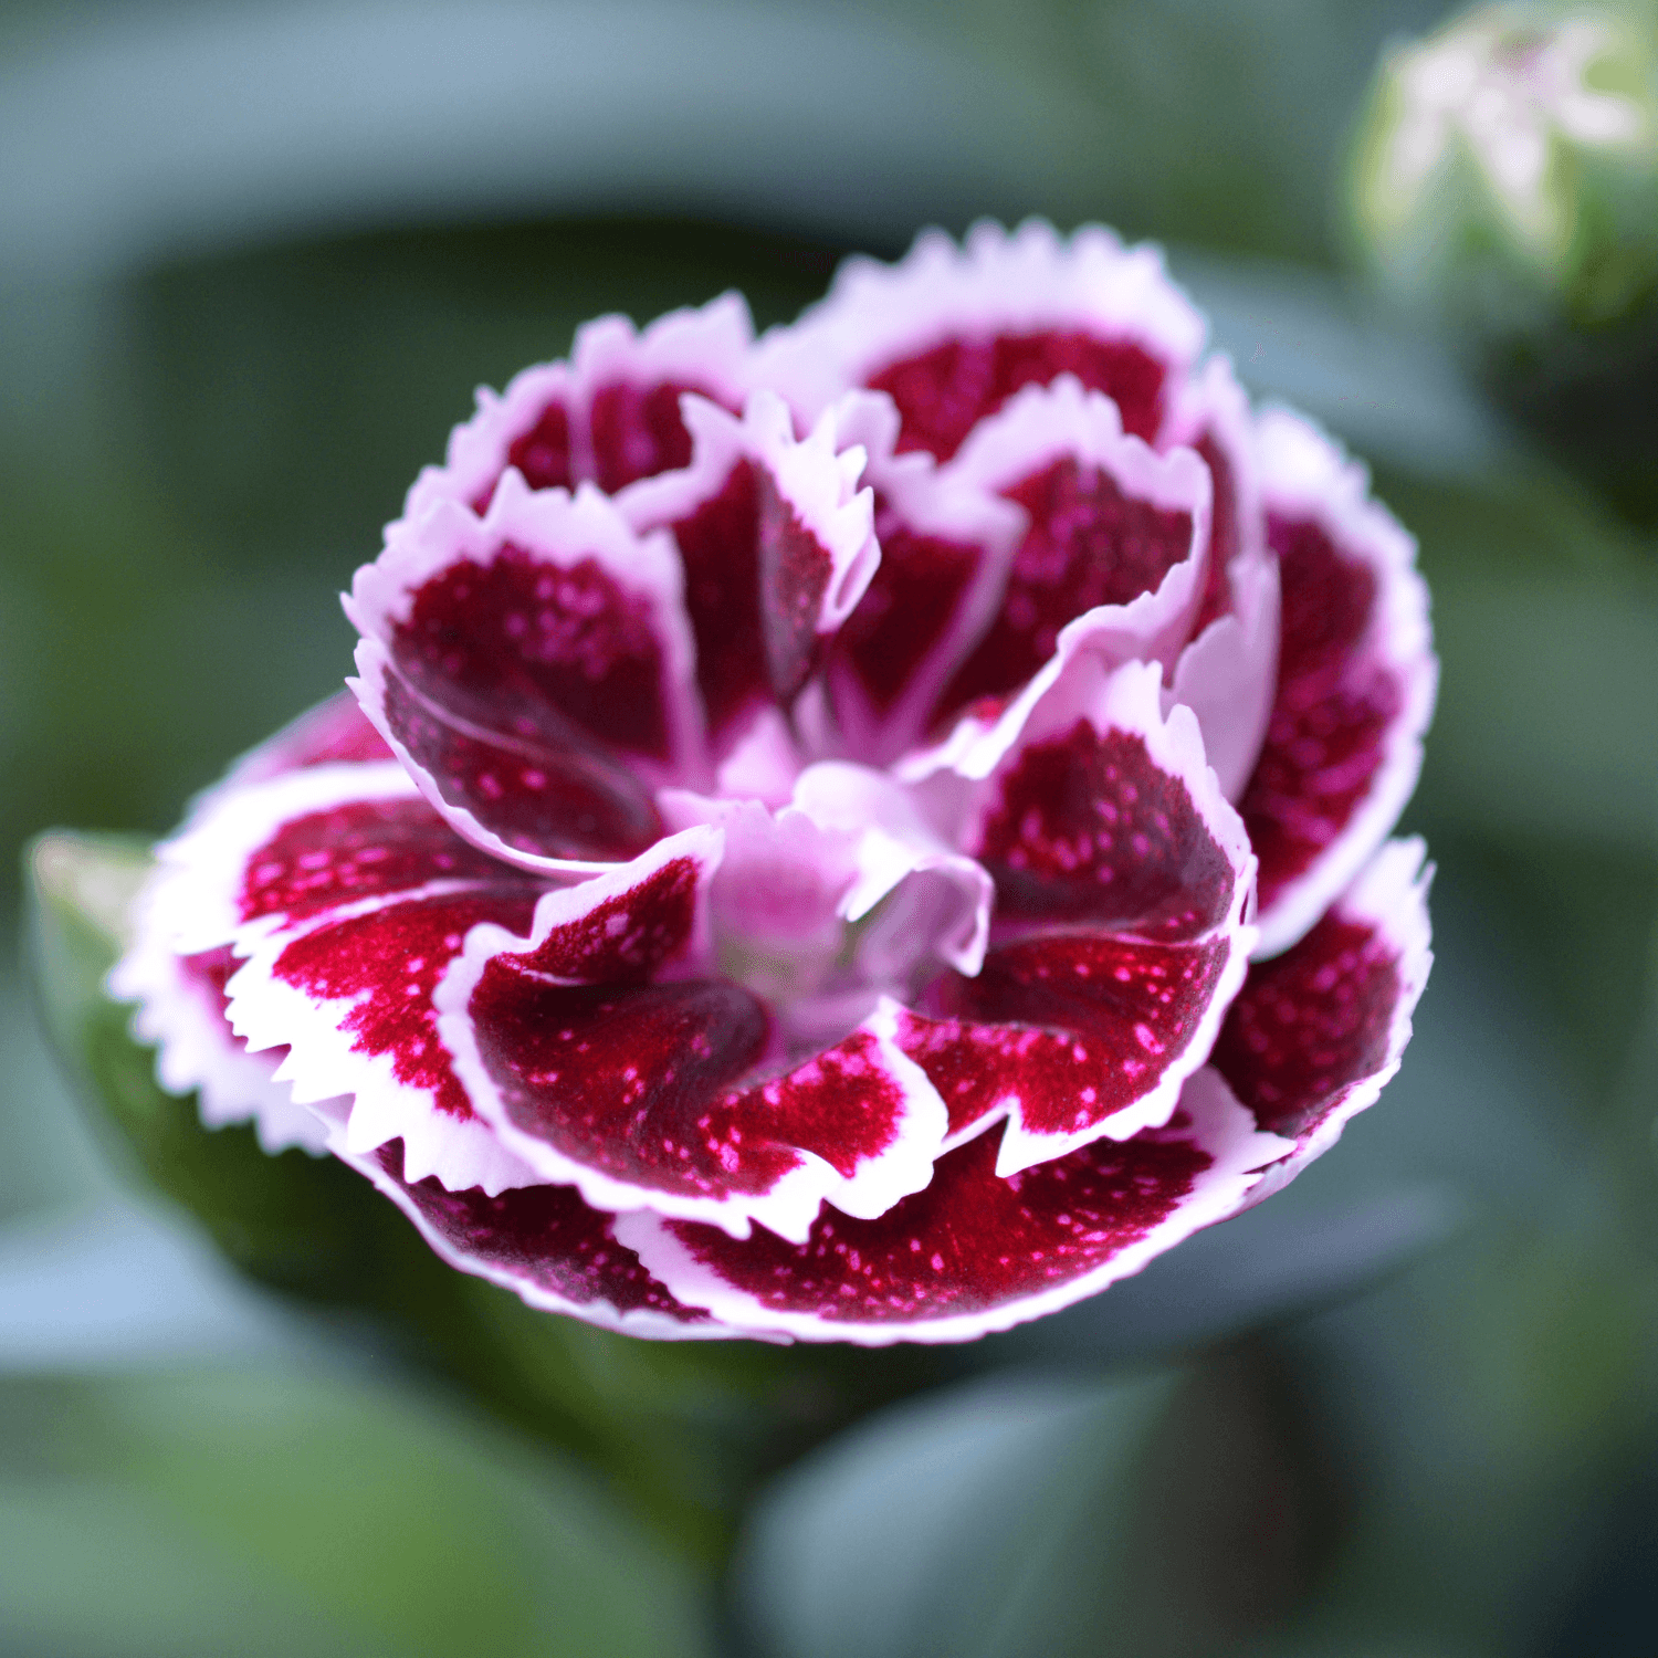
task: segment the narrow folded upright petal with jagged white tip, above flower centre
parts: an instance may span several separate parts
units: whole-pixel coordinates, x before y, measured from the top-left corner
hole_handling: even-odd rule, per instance
[[[861,448],[827,413],[796,441],[768,391],[733,419],[685,400],[691,466],[635,484],[618,506],[640,532],[670,527],[685,564],[696,681],[718,758],[774,701],[789,703],[851,615],[880,547]]]

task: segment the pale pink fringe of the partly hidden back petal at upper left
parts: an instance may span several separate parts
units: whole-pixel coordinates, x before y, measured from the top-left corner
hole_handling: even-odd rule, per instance
[[[532,431],[550,403],[570,429],[570,473],[594,478],[589,414],[604,385],[690,383],[741,403],[749,385],[748,353],[754,328],[739,293],[723,293],[696,310],[658,317],[640,333],[625,317],[600,317],[575,335],[574,363],[539,363],[516,375],[506,391],[478,391],[478,413],[449,434],[443,466],[428,466],[403,506],[406,521],[424,517],[439,501],[471,506],[506,471],[507,453]]]

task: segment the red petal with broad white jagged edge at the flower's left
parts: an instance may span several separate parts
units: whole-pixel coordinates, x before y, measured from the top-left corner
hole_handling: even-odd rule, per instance
[[[499,1190],[529,1171],[473,1116],[431,990],[471,925],[527,922],[539,890],[461,841],[401,766],[323,764],[207,796],[159,849],[144,935],[247,958],[225,985],[237,1043],[295,1104],[343,1096],[353,1149],[403,1137],[416,1179]]]

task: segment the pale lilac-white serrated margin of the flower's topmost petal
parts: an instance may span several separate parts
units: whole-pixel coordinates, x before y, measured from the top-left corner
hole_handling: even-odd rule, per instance
[[[842,391],[948,338],[1043,328],[1134,340],[1169,365],[1171,383],[1204,343],[1204,318],[1159,249],[1124,247],[1103,225],[1066,239],[1043,219],[1011,232],[982,219],[962,247],[922,230],[895,265],[844,260],[826,298],[761,338],[753,383],[774,386],[811,421]]]

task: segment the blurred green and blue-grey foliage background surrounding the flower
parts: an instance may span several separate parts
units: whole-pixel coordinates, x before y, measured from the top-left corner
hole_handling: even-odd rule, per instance
[[[1164,242],[1244,380],[1370,459],[1444,662],[1439,958],[1383,1103],[1141,1278],[910,1368],[683,1374],[487,1297],[411,1336],[414,1292],[161,1195],[219,1151],[101,1131],[8,957],[0,1651],[1658,1651],[1651,285],[1568,303],[1457,187],[1423,211],[1462,264],[1366,249],[1378,63],[1442,13],[0,10],[13,869],[162,832],[338,685],[333,595],[476,383],[607,310],[784,320],[980,214]],[[1645,166],[1602,252],[1658,240]],[[744,1413],[794,1429],[756,1452]]]

